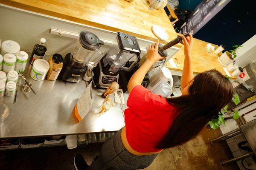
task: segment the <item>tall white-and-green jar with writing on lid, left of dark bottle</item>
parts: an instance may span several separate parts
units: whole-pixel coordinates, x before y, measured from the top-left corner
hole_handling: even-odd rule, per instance
[[[24,74],[29,55],[25,51],[19,51],[16,54],[16,57],[15,71],[17,71],[18,76],[22,76]]]

